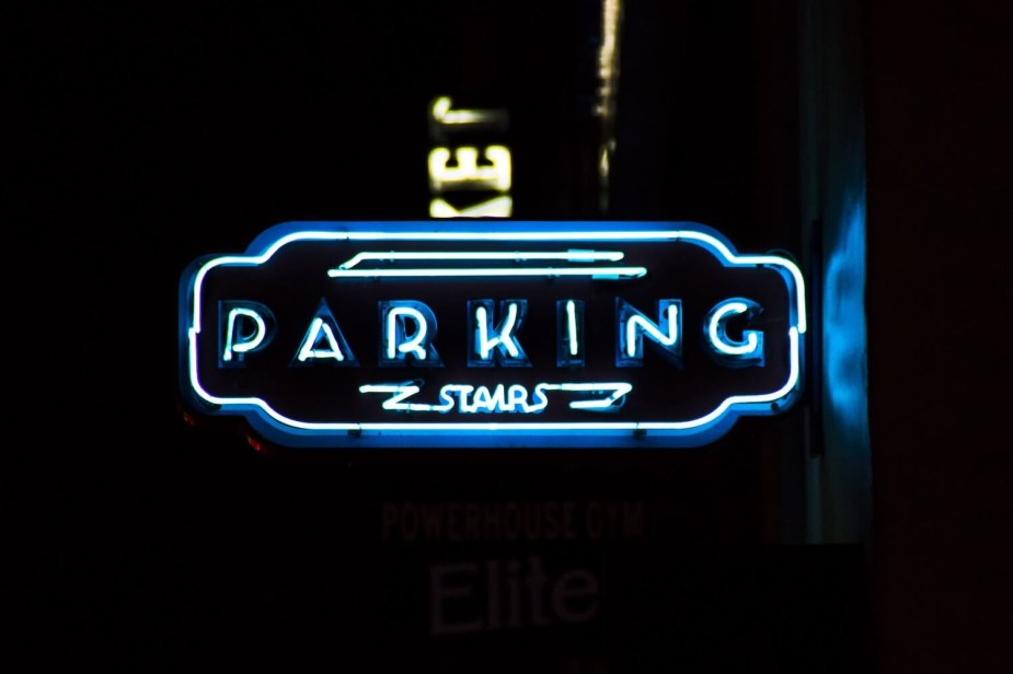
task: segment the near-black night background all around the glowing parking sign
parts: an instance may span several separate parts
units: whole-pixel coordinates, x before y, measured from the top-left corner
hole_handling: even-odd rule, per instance
[[[721,445],[678,457],[286,461],[231,428],[184,422],[184,266],[239,252],[280,221],[424,218],[434,95],[458,88],[475,105],[509,107],[516,217],[595,212],[596,9],[521,4],[7,12],[16,386],[2,467],[4,607],[5,636],[30,662],[446,672],[1009,663],[1010,443],[992,321],[1009,301],[1013,55],[1000,2],[862,12],[871,539],[788,545],[803,509],[797,477],[783,474],[797,415],[741,423]],[[610,216],[700,220],[743,251],[799,251],[792,3],[629,4]],[[572,546],[379,539],[382,503],[448,498],[643,499],[648,531]],[[449,644],[425,637],[427,566],[532,554],[608,578],[600,619]]]

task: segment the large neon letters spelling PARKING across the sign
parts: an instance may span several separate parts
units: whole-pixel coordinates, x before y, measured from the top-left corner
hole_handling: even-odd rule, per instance
[[[437,350],[438,325],[434,311],[417,300],[384,300],[378,304],[379,365],[403,368],[407,364],[425,368],[442,367]],[[527,368],[531,361],[520,333],[528,315],[528,300],[469,300],[468,367]],[[645,344],[651,345],[668,362],[682,367],[683,325],[682,300],[658,300],[656,318],[615,298],[615,365],[636,368],[644,363]],[[762,307],[746,298],[730,298],[715,304],[702,326],[705,350],[715,362],[729,368],[763,365],[763,333],[747,329]],[[584,367],[585,303],[582,300],[556,302],[556,365]],[[738,319],[746,325],[730,330]],[[253,355],[272,342],[277,330],[274,313],[266,305],[252,301],[219,302],[219,365],[243,367]],[[739,337],[734,336],[740,335]],[[315,364],[359,367],[345,330],[321,299],[315,313],[292,355],[293,367]]]

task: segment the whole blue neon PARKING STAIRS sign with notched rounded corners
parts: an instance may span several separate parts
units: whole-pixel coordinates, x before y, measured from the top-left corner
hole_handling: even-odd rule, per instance
[[[288,446],[699,446],[801,393],[798,267],[692,223],[293,222],[185,271],[182,390]]]

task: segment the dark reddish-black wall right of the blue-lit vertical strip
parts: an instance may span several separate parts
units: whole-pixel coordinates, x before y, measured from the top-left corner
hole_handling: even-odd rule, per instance
[[[885,672],[1009,669],[1009,3],[867,3],[870,402]],[[1000,337],[1000,339],[1002,339]]]

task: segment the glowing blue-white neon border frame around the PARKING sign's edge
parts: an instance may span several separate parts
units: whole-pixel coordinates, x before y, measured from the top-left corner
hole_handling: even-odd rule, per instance
[[[495,231],[488,231],[495,228]],[[485,231],[483,231],[485,230]],[[448,241],[448,242],[687,242],[725,267],[769,267],[784,280],[791,298],[788,342],[791,372],[783,385],[759,395],[725,398],[712,411],[682,421],[612,422],[304,422],[278,414],[256,397],[221,398],[197,376],[200,283],[218,265],[256,266],[295,241]],[[739,254],[712,228],[692,222],[442,221],[286,222],[258,235],[239,255],[207,255],[184,271],[180,287],[180,384],[194,411],[242,417],[269,442],[291,448],[697,448],[727,433],[743,416],[771,416],[794,405],[804,381],[805,284],[797,265],[771,254]]]

